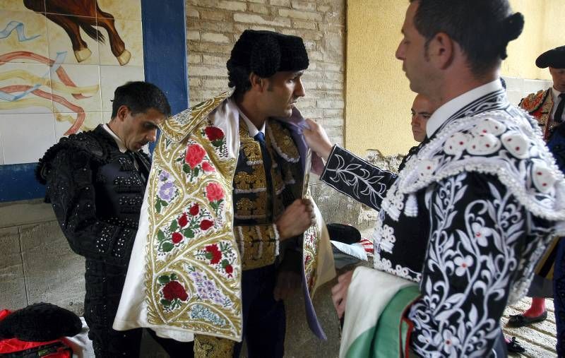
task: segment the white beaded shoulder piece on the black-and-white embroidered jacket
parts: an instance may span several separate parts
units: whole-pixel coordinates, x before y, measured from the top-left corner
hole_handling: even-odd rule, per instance
[[[391,193],[413,195],[429,184],[461,172],[493,174],[530,213],[565,220],[564,174],[542,139],[533,118],[511,107],[448,122],[417,155],[410,157],[383,201],[383,210],[398,217]],[[405,213],[414,216],[414,207]]]

